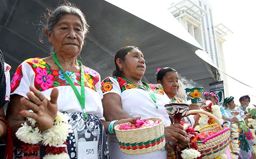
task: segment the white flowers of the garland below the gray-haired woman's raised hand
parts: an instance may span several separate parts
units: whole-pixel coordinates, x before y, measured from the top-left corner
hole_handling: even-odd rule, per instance
[[[30,112],[33,111],[30,110]],[[34,119],[28,118],[27,120],[30,121],[31,126],[27,125],[27,123],[22,123],[22,127],[15,133],[22,142],[35,145],[42,141],[45,146],[67,146],[63,143],[71,132],[71,125],[68,124],[68,116],[66,114],[57,112],[53,126],[42,133],[38,128],[35,128],[36,121]],[[43,159],[70,159],[70,157],[67,153],[62,152],[61,154],[47,154]]]

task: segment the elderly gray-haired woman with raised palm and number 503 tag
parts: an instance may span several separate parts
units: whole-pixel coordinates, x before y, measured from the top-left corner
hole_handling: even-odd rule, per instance
[[[13,131],[15,159],[24,156],[19,147],[24,143],[15,132],[22,123],[30,124],[26,118],[35,119],[35,127],[43,132],[52,127],[57,111],[67,113],[72,127],[66,148],[71,159],[108,159],[106,133],[113,131],[114,122],[111,125],[100,120],[103,117],[100,75],[77,60],[89,27],[85,15],[75,5],[65,3],[48,10],[44,18],[40,29],[54,53],[46,58],[25,60],[11,82],[6,119]],[[136,119],[118,120],[114,125]],[[45,147],[41,146],[40,153],[34,155],[45,156]]]

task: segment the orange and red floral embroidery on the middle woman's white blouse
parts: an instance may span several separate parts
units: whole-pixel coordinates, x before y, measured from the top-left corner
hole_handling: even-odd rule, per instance
[[[115,80],[117,80],[121,92],[124,92],[127,89],[139,88],[136,85],[127,82],[126,80],[122,79],[121,77],[113,76]],[[149,84],[149,87],[152,89],[154,93],[164,95],[164,89],[161,84]],[[105,80],[101,83],[102,92],[109,92],[113,88],[113,82],[109,79],[109,77],[105,78]]]

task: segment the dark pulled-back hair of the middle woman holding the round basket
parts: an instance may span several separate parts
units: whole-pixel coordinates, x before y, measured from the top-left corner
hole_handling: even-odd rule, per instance
[[[127,53],[132,51],[132,49],[134,49],[134,48],[137,48],[140,51],[140,49],[135,46],[125,46],[125,47],[120,48],[117,51],[116,55],[114,56],[114,65],[116,66],[116,68],[113,70],[112,76],[120,77],[121,73],[122,73],[119,66],[117,65],[117,58],[120,58],[124,62],[125,55],[127,55]]]

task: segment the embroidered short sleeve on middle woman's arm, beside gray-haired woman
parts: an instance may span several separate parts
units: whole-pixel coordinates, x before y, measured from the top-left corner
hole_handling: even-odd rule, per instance
[[[105,78],[102,83],[101,83],[101,89],[102,93],[107,94],[107,93],[116,93],[121,96],[121,89],[118,81],[114,79],[113,77],[107,77]]]

